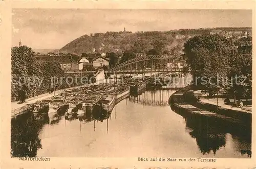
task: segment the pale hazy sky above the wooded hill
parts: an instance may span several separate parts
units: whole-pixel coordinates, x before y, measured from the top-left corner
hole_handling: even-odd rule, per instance
[[[107,31],[169,31],[252,27],[251,10],[13,9],[12,46],[60,49],[76,38]]]

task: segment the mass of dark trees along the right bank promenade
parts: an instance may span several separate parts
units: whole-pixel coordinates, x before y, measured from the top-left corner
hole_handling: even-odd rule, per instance
[[[209,96],[225,93],[231,98],[251,99],[251,37],[233,40],[219,35],[196,36],[184,44],[184,59],[196,89],[206,90]]]

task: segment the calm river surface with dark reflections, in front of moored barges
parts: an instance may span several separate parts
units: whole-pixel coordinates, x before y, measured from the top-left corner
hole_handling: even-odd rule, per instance
[[[173,92],[130,96],[103,122],[61,117],[49,125],[20,117],[12,121],[11,156],[250,158],[250,133],[235,134],[175,113],[167,104]]]

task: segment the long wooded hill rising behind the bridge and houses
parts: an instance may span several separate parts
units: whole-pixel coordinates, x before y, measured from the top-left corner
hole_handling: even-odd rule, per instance
[[[157,48],[161,51],[172,51],[176,46],[183,46],[184,42],[193,36],[210,33],[212,30],[222,31],[251,31],[251,28],[206,28],[180,29],[173,31],[148,32],[106,32],[83,35],[63,46],[62,53],[122,53],[125,50],[137,50],[140,53]],[[177,37],[178,35],[178,37]],[[182,37],[184,36],[184,37]],[[179,47],[180,48],[180,47]]]

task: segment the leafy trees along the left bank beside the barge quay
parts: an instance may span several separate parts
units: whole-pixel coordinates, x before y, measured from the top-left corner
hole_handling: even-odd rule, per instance
[[[28,46],[12,47],[11,57],[12,101],[17,97],[20,88],[26,90],[28,97],[35,96],[47,92],[53,76],[64,76],[59,63],[37,63],[34,52]]]

